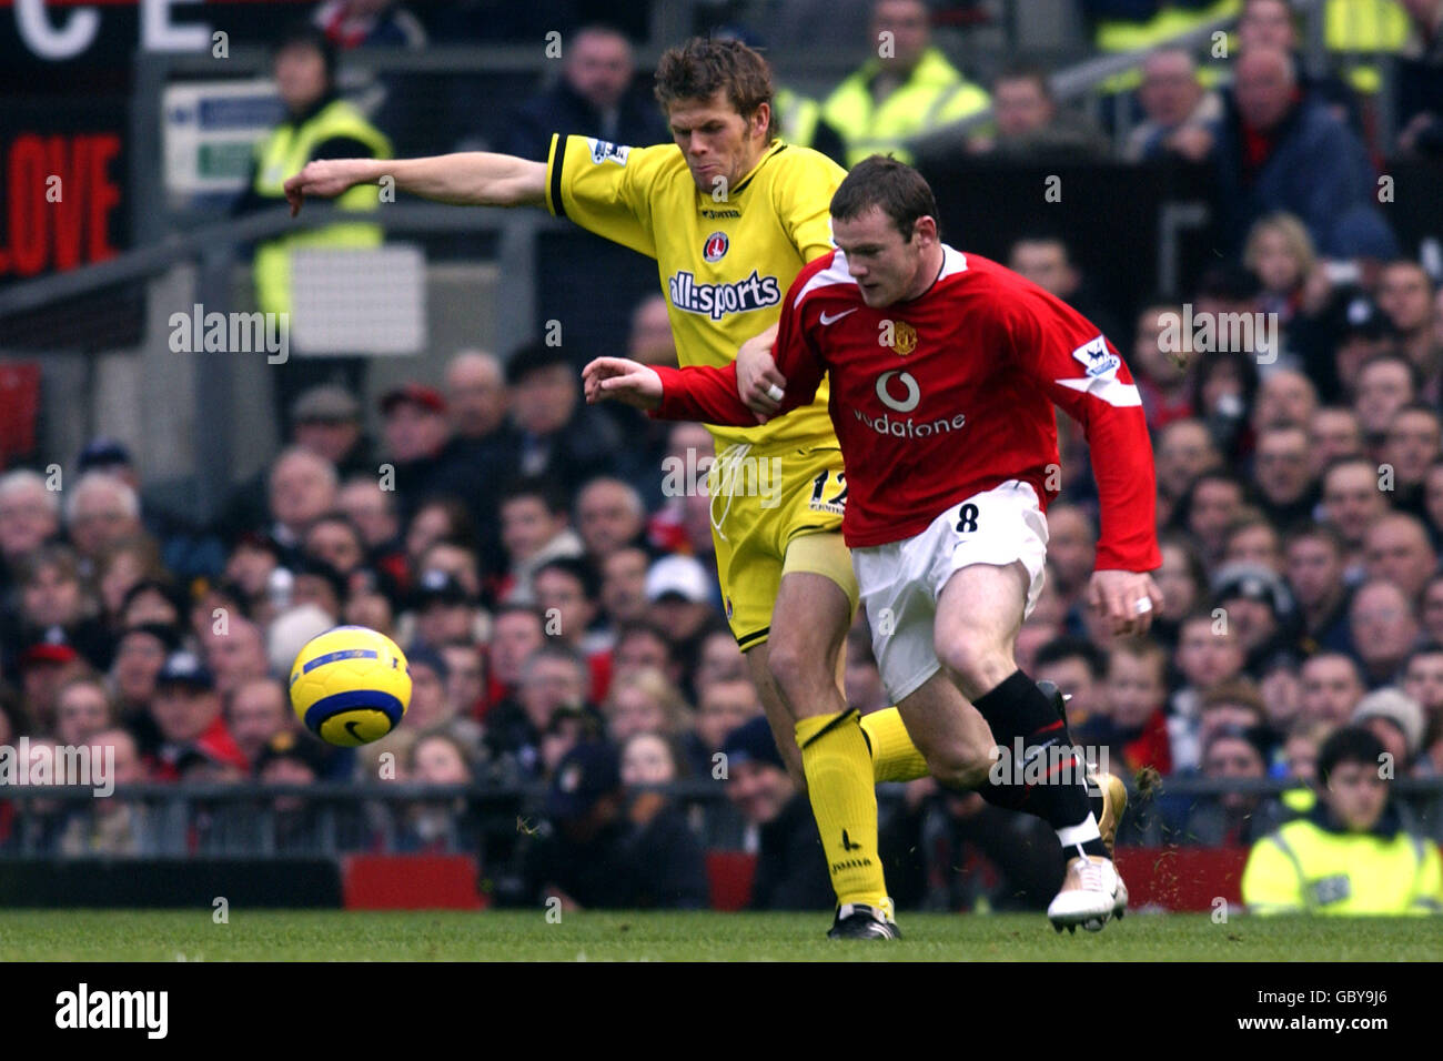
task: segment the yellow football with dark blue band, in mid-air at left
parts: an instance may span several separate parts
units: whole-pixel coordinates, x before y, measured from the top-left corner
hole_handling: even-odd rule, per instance
[[[306,729],[342,748],[380,741],[411,702],[411,671],[391,638],[367,626],[317,634],[290,668],[290,706]]]

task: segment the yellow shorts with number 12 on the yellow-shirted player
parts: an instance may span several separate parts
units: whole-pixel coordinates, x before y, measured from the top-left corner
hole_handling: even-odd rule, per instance
[[[766,641],[785,573],[831,579],[856,612],[857,576],[841,540],[840,449],[727,446],[707,473],[707,492],[722,601],[742,651]]]

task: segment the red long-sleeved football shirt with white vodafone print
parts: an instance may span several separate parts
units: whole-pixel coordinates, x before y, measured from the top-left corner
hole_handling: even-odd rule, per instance
[[[1056,495],[1053,404],[1082,424],[1102,508],[1098,570],[1162,564],[1152,443],[1133,377],[1097,326],[996,261],[942,248],[919,297],[870,307],[837,250],[786,293],[773,357],[782,413],[831,378],[847,465],[843,534],[853,547],[921,533],[951,505],[1009,479]],[[658,368],[658,416],[746,426],[756,417],[726,368]]]

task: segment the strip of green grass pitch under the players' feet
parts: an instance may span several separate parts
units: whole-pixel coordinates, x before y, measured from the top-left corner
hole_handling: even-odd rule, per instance
[[[0,961],[1437,961],[1443,918],[903,914],[895,943],[825,940],[827,914],[0,911]]]

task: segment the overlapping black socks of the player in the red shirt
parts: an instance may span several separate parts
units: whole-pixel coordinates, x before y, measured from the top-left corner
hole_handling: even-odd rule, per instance
[[[1059,756],[1051,767],[1045,767],[1048,759],[1056,755],[1049,749],[1072,746],[1066,719],[1059,717],[1053,702],[1032,678],[1017,670],[977,697],[973,704],[987,719],[993,739],[1003,749],[1000,762],[977,790],[981,797],[999,807],[1036,814],[1059,833],[1082,826],[1092,814],[1092,804],[1082,778],[1081,756],[1075,754]],[[1048,759],[1043,764],[1033,764],[1036,755]],[[1071,784],[1056,784],[1052,780],[1063,771],[1074,771],[1075,780]],[[1029,784],[1022,775],[1032,777],[1040,784]],[[1098,800],[1101,801],[1101,797]],[[1088,855],[1107,855],[1101,837],[1063,840],[1065,847],[1079,844]]]

